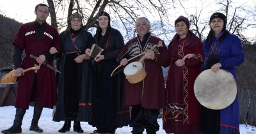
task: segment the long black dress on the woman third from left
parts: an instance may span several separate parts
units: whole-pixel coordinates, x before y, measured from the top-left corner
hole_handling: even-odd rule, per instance
[[[124,72],[110,77],[118,66],[116,56],[124,47],[122,34],[113,28],[105,36],[95,34],[93,43],[104,48],[104,60],[93,61],[93,120],[99,133],[111,133],[129,124],[129,107],[124,107]]]

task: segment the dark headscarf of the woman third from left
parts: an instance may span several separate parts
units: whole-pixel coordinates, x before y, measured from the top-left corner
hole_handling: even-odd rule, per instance
[[[102,32],[102,29],[99,26],[99,17],[102,16],[102,15],[108,17],[108,27],[107,27],[107,31],[104,35],[103,40],[100,41],[100,44],[99,44],[98,42],[99,42],[99,38],[100,38],[101,32]],[[96,42],[95,43],[100,45],[100,47],[104,48],[104,45],[106,44],[106,41],[108,40],[109,32],[111,31],[112,27],[110,26],[110,16],[106,11],[101,11],[99,13],[99,17],[98,17],[98,26],[97,26],[97,31],[96,31],[96,39],[95,39]]]

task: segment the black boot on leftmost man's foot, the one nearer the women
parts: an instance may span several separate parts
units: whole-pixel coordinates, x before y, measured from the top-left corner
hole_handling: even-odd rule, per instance
[[[31,121],[31,126],[29,128],[30,131],[36,131],[36,132],[40,132],[40,133],[42,133],[44,131],[38,126],[38,121],[42,114],[42,110],[43,110],[43,108],[37,107],[37,98],[36,98],[35,106],[34,106],[34,115],[33,115],[32,121]]]

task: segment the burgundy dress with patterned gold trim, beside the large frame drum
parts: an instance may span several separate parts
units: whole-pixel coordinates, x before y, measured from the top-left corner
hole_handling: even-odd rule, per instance
[[[172,63],[166,82],[167,106],[163,112],[163,129],[166,133],[198,133],[200,105],[195,98],[193,87],[196,77],[200,74],[203,55],[202,42],[197,42],[193,47],[189,47],[186,39],[183,39],[176,41],[176,44],[172,41],[168,46]],[[175,61],[187,54],[195,56],[186,59],[185,65],[176,66]]]

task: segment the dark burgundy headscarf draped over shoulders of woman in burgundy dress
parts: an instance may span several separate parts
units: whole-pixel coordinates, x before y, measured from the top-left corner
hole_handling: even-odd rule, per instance
[[[185,41],[185,47],[186,48],[191,48],[191,47],[195,47],[195,45],[197,45],[199,43],[199,38],[192,32],[189,30],[189,20],[188,18],[184,17],[184,16],[180,16],[175,20],[175,24],[177,24],[178,22],[184,21],[186,26],[188,27],[188,33],[186,35],[186,41]],[[170,42],[170,46],[172,48],[172,52],[171,54],[175,54],[176,48],[178,47],[178,42],[179,42],[180,36],[179,34],[175,34],[175,36],[173,37],[172,41]],[[172,56],[173,57],[173,56]]]

